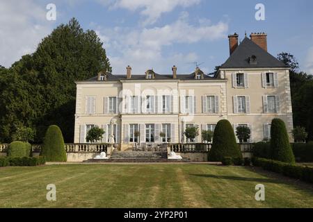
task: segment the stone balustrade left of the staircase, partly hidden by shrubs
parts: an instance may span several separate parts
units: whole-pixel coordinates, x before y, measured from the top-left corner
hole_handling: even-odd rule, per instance
[[[66,153],[102,153],[107,152],[109,144],[65,144]],[[42,144],[32,144],[34,153],[40,153]],[[8,151],[8,144],[0,144],[0,153]]]

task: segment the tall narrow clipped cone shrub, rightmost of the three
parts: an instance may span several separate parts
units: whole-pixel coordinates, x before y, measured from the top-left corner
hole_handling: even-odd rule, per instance
[[[273,160],[295,163],[287,129],[282,119],[273,119],[271,123],[271,157]]]

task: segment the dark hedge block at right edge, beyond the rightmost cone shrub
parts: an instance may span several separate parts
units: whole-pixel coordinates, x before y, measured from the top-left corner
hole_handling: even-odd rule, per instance
[[[308,142],[307,144],[295,143],[292,151],[297,161],[313,162],[313,142]]]

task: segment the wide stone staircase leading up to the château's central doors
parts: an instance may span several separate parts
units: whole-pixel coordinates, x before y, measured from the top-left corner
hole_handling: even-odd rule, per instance
[[[166,152],[146,152],[146,151],[113,151],[108,160],[90,159],[84,162],[189,162],[187,158],[183,160],[168,160]]]

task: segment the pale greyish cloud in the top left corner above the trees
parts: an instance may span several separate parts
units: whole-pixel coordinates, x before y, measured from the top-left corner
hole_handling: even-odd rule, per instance
[[[10,67],[51,31],[45,6],[34,1],[0,1],[0,65]]]

